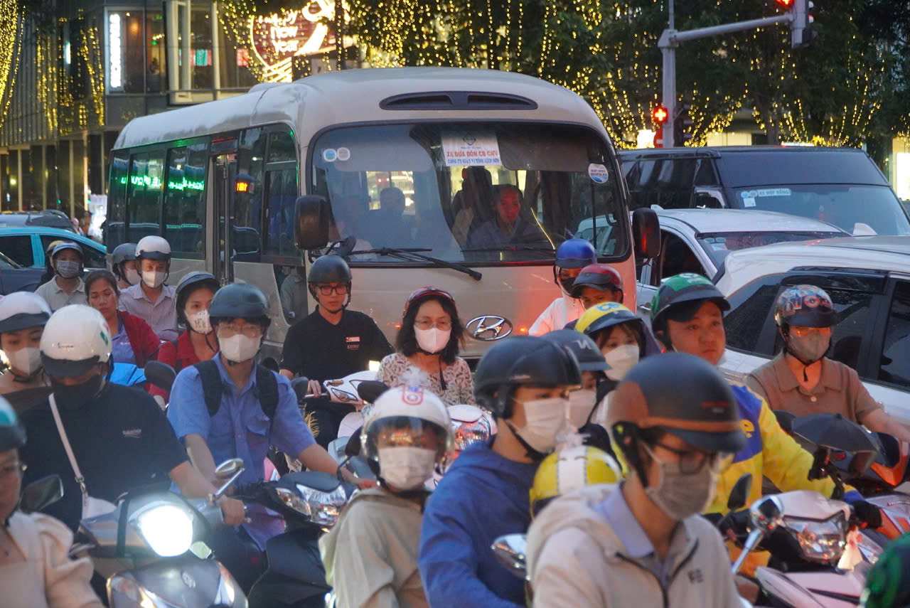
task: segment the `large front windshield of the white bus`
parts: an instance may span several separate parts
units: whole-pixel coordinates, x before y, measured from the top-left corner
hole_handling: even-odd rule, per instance
[[[355,238],[352,261],[419,249],[451,262],[551,262],[566,238],[628,256],[613,159],[583,127],[528,123],[341,127],[312,148],[309,192],[329,199],[329,238]]]

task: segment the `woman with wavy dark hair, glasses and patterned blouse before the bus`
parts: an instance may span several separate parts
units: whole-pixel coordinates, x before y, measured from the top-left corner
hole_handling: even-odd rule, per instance
[[[390,387],[411,381],[420,370],[427,390],[446,405],[474,403],[468,363],[458,356],[464,327],[449,292],[420,288],[405,303],[396,340],[397,352],[382,360],[379,380]]]

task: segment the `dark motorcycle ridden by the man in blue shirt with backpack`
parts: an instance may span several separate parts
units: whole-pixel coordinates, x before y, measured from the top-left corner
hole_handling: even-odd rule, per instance
[[[354,486],[319,471],[291,472],[278,481],[238,489],[236,498],[284,516],[286,532],[268,539],[268,567],[249,591],[252,608],[322,608],[331,587],[319,536],[338,522]]]

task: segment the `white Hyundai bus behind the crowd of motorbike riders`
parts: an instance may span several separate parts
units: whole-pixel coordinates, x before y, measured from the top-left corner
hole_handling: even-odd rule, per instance
[[[477,69],[331,72],[130,121],[111,152],[105,238],[108,250],[167,238],[171,284],[207,269],[263,289],[273,356],[315,309],[309,264],[343,240],[352,309],[394,343],[408,294],[446,289],[476,359],[560,295],[554,248],[580,232],[604,235],[601,260],[635,309],[632,224],[640,256],[659,238],[649,209],[630,220],[620,176],[601,121],[560,86]],[[506,234],[494,200],[516,188],[520,228]]]

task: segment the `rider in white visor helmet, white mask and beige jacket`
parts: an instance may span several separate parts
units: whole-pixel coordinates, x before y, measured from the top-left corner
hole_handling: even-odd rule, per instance
[[[420,386],[373,403],[360,441],[379,487],[357,492],[319,541],[339,608],[429,606],[417,569],[423,484],[450,450],[450,423],[442,400]]]

